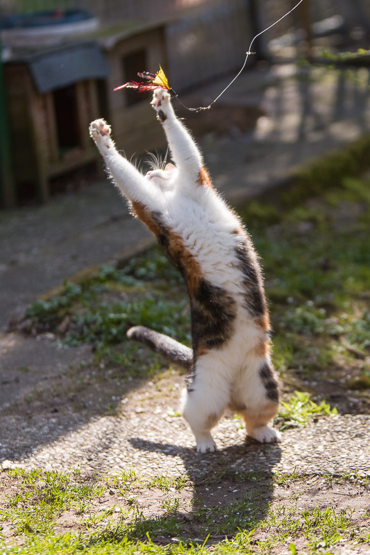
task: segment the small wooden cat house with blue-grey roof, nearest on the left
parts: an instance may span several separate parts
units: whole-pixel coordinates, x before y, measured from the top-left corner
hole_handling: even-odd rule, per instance
[[[109,71],[94,42],[28,50],[4,64],[18,201],[47,200],[52,178],[96,159],[88,126]]]

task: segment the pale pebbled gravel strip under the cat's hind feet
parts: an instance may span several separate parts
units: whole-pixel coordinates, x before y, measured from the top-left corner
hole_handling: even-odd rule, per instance
[[[173,379],[178,391],[182,378],[174,375]],[[218,452],[200,455],[194,450],[190,429],[176,416],[176,395],[164,400],[163,389],[149,382],[121,400],[115,416],[83,420],[68,411],[27,422],[21,416],[5,415],[1,458],[26,468],[78,467],[84,474],[134,468],[146,478],[187,474],[199,480],[222,464],[233,472],[370,474],[370,416],[321,417],[306,427],[283,432],[280,445],[260,445],[246,440],[240,421],[226,414],[215,428]]]

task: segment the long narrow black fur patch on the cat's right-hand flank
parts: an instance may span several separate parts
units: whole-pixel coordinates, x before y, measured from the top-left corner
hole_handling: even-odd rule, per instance
[[[267,303],[262,287],[260,268],[251,259],[246,244],[239,244],[235,248],[235,254],[239,260],[239,269],[244,276],[244,307],[251,316],[262,316],[267,311]]]

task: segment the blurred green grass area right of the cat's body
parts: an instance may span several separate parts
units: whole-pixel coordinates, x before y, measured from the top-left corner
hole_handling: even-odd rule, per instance
[[[252,218],[250,231],[266,275],[278,370],[303,388],[302,377],[321,382],[323,368],[333,379],[346,368],[344,389],[369,389],[369,364],[347,348],[363,360],[370,348],[369,180],[346,178],[319,198],[276,210],[280,221]]]

